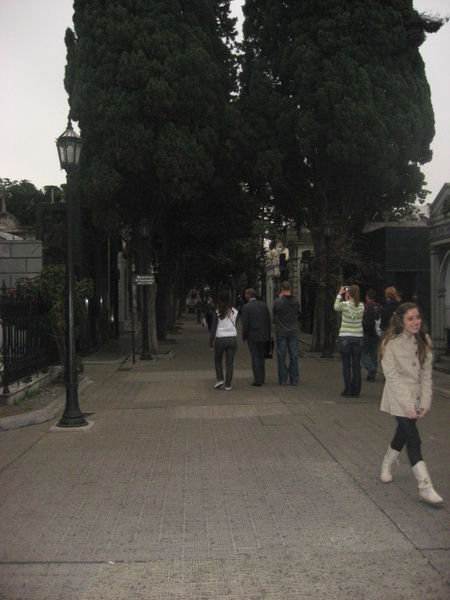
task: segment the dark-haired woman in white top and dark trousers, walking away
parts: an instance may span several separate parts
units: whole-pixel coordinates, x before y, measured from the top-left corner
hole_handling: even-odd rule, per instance
[[[231,306],[228,292],[221,292],[217,308],[212,313],[209,347],[214,350],[214,367],[216,369],[216,389],[231,390],[233,379],[234,355],[237,350],[236,322],[238,311]],[[223,377],[223,357],[225,355],[225,379]]]

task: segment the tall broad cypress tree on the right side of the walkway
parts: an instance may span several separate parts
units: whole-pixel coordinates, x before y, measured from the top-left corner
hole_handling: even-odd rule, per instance
[[[246,0],[244,15],[250,180],[310,227],[319,258],[325,223],[342,240],[423,197],[434,118],[419,47],[442,21],[400,0]]]

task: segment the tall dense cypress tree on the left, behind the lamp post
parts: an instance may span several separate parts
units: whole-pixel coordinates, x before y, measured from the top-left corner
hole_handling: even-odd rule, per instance
[[[229,0],[75,0],[74,9],[65,84],[84,191],[99,221],[147,217],[152,239],[167,237],[169,216],[195,207],[217,170],[235,87]],[[154,244],[171,262],[165,247]]]

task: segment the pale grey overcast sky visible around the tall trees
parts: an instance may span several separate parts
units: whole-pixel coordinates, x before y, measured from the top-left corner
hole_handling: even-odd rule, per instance
[[[240,12],[240,0],[232,0]],[[60,185],[55,139],[66,128],[64,33],[73,0],[0,0],[0,177]],[[449,0],[414,0],[420,12],[450,15]],[[423,171],[432,201],[450,182],[450,23],[421,47],[436,120],[433,161]]]

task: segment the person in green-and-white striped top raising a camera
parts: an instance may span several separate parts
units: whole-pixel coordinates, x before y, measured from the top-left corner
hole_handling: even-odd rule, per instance
[[[361,392],[362,319],[364,305],[359,299],[359,286],[341,286],[334,310],[342,313],[338,349],[342,358],[344,391],[341,396],[359,398]]]

